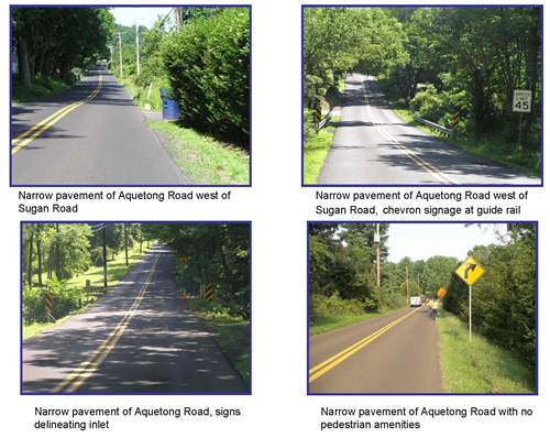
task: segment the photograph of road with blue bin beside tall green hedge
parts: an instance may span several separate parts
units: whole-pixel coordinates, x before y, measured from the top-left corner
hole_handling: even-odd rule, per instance
[[[251,186],[251,7],[10,7],[11,186]]]

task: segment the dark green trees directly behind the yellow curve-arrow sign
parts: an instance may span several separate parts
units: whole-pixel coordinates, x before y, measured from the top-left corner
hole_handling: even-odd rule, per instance
[[[473,329],[531,364],[536,359],[536,253],[534,223],[509,225],[503,244],[475,247],[470,253],[486,270],[472,288]],[[468,286],[453,275],[444,308],[468,320]]]

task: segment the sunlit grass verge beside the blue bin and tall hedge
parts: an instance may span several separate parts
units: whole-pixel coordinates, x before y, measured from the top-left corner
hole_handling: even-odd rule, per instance
[[[158,86],[154,86],[147,100],[148,87],[140,88],[133,77],[118,79],[143,110],[150,103],[153,111],[162,111]],[[198,133],[180,122],[147,120],[150,128],[168,149],[182,172],[197,185],[248,185],[250,183],[250,155],[232,144]]]

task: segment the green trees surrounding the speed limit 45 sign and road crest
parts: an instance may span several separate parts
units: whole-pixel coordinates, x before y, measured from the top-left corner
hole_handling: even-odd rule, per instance
[[[376,76],[432,122],[459,111],[461,139],[540,172],[541,8],[305,8],[305,102],[344,72]],[[515,89],[531,91],[531,112],[513,111]]]

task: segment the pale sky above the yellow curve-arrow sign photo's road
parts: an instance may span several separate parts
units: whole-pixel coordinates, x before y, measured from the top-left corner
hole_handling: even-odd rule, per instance
[[[475,245],[499,243],[495,227],[506,231],[505,223],[482,223],[465,228],[463,223],[391,223],[389,262],[397,263],[405,256],[413,261],[428,260],[433,255],[465,260]]]

